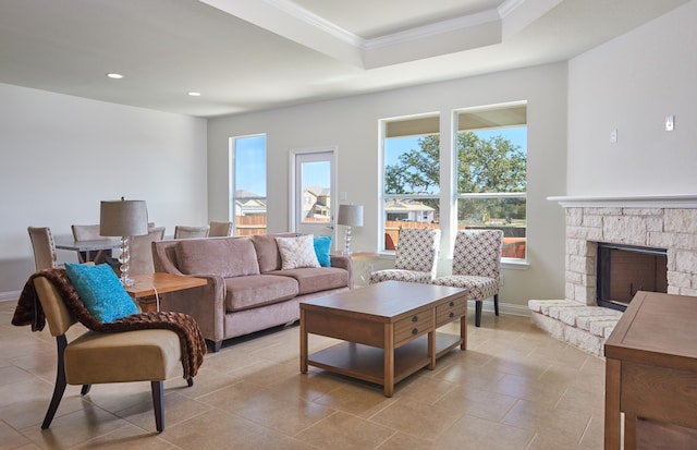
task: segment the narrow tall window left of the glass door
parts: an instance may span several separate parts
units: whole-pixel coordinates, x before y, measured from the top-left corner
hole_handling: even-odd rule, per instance
[[[234,235],[266,233],[266,135],[230,139],[230,220]]]

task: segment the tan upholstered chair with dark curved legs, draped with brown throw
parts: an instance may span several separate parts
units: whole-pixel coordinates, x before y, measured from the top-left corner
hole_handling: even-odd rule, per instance
[[[41,428],[47,429],[51,425],[66,385],[82,385],[81,393],[85,396],[91,385],[150,381],[156,428],[158,433],[162,431],[163,380],[182,367],[176,332],[169,329],[108,333],[87,331],[69,343],[66,332],[77,319],[46,277],[36,277],[34,287],[58,346],[56,386]],[[191,378],[187,382],[193,385]]]

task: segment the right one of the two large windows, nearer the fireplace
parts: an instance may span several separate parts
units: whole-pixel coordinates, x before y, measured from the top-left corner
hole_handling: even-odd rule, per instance
[[[457,228],[503,230],[502,257],[525,259],[527,107],[460,111]]]

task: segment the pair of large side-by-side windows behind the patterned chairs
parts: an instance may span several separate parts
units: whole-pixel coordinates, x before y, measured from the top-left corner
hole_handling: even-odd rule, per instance
[[[453,117],[453,150],[445,154],[438,114],[382,122],[383,250],[395,248],[401,228],[440,228],[445,211],[457,229],[503,230],[501,256],[525,259],[527,106],[467,109]],[[453,168],[452,186],[441,185],[441,166]],[[441,198],[441,191],[454,202]],[[444,209],[451,205],[456,210]]]

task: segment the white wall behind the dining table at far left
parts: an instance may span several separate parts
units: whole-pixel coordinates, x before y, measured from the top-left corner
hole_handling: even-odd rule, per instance
[[[204,119],[0,84],[0,299],[34,272],[29,226],[71,235],[122,195],[168,234],[208,220]]]

